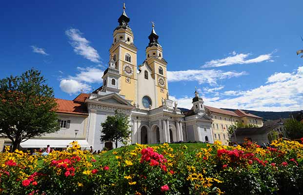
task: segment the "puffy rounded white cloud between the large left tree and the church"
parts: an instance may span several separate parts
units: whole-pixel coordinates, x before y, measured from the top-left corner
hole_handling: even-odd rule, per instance
[[[76,94],[80,91],[84,93],[89,92],[91,90],[91,86],[81,83],[77,80],[73,79],[63,79],[60,82],[60,88],[63,92],[68,93],[70,95]]]

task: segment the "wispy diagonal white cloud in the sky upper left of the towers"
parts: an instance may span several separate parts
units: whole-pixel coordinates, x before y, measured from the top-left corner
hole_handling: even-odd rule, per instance
[[[96,49],[89,45],[78,29],[71,28],[65,31],[66,36],[71,40],[70,44],[74,47],[74,52],[89,59],[92,62],[100,62],[100,56]]]

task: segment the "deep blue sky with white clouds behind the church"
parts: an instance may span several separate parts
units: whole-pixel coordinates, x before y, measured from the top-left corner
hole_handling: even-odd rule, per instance
[[[3,1],[0,78],[41,70],[55,97],[73,99],[101,86],[121,0]],[[145,58],[151,21],[168,62],[169,95],[261,111],[303,109],[302,0],[125,0]]]

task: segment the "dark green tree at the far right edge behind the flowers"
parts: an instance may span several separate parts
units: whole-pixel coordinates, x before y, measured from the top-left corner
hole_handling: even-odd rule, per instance
[[[303,137],[303,122],[295,119],[288,119],[284,123],[286,135],[290,139],[299,139]]]

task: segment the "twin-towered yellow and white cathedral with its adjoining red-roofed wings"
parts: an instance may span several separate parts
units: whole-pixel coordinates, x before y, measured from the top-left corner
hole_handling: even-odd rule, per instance
[[[233,122],[244,122],[243,118],[247,118],[248,122],[249,118],[250,123],[262,125],[262,118],[258,116],[248,113],[240,116],[235,112],[204,106],[197,90],[191,110],[179,109],[178,103],[168,96],[169,65],[164,59],[154,23],[146,39],[146,58],[142,64],[138,64],[137,47],[125,6],[118,22],[109,49],[108,68],[102,76],[102,86],[90,94],[81,93],[73,100],[57,98],[60,131],[22,142],[22,148],[46,145],[64,148],[75,139],[82,148],[112,148],[112,142],[100,141],[101,123],[107,116],[114,115],[116,110],[127,115],[131,121],[130,144],[179,141],[213,143],[214,140],[227,144],[227,128]],[[222,118],[225,118],[225,122]],[[9,144],[9,140],[0,139],[0,147]]]

